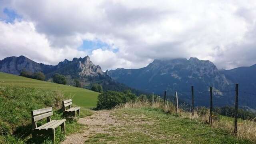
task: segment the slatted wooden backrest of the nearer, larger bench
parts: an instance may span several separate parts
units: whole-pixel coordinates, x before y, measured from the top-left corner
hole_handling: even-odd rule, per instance
[[[52,115],[53,115],[52,107],[42,108],[42,109],[39,109],[39,110],[32,110],[31,111],[32,130],[37,128],[36,122],[38,120],[42,120],[44,118],[47,118],[47,122],[50,122]]]

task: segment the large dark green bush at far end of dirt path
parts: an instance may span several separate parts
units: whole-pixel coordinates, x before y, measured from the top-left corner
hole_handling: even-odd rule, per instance
[[[124,92],[106,91],[98,96],[96,110],[111,109],[118,104],[135,101],[135,99],[136,95],[132,94],[130,90]]]

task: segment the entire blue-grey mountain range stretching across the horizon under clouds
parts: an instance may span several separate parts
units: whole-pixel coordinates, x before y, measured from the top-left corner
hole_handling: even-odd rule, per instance
[[[92,83],[99,83],[104,90],[139,91],[163,95],[167,90],[168,98],[178,92],[179,98],[191,103],[191,86],[194,86],[194,100],[197,106],[209,106],[209,87],[213,87],[214,106],[234,104],[235,84],[239,84],[240,108],[256,109],[256,65],[218,70],[209,60],[198,58],[176,58],[171,60],[154,60],[148,66],[139,69],[107,70],[102,72],[100,66],[92,63],[89,56],[64,60],[57,65],[46,65],[34,62],[25,56],[8,57],[0,60],[0,72],[19,75],[22,70],[43,72],[50,80],[55,73],[66,76],[68,84],[79,79],[84,88]],[[137,90],[135,90],[137,89]]]

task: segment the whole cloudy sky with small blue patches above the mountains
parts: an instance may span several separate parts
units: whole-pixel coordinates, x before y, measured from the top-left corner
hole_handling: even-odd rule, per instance
[[[154,59],[256,64],[255,0],[0,0],[0,60],[58,64],[89,55],[103,70]]]

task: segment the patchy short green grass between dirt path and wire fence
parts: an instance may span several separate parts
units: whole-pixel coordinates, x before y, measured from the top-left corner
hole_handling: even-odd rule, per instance
[[[98,126],[85,144],[252,144],[226,130],[166,114],[156,108],[124,108],[111,113],[121,124]]]

